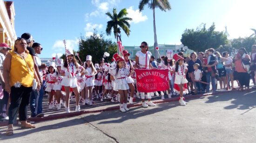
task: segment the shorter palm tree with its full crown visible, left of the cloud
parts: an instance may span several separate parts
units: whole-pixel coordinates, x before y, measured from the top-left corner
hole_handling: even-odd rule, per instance
[[[110,18],[110,20],[107,22],[106,33],[107,35],[111,35],[111,30],[113,28],[116,42],[118,42],[118,33],[121,32],[121,29],[125,32],[127,36],[130,35],[129,21],[131,21],[132,19],[126,17],[127,14],[128,12],[125,8],[122,9],[118,14],[115,8],[113,8],[113,13],[110,13],[110,12],[106,13],[106,15],[108,15],[108,17]],[[117,44],[117,51],[118,53],[120,52],[118,48],[118,44]]]

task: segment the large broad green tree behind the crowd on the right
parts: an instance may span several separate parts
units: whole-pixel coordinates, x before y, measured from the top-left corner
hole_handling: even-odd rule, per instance
[[[189,49],[200,52],[209,48],[217,49],[220,45],[228,44],[228,38],[223,31],[215,31],[213,23],[209,29],[206,29],[206,24],[201,24],[194,29],[186,29],[182,34],[182,44]]]

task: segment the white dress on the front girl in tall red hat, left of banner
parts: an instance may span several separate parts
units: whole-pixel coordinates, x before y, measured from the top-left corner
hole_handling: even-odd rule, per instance
[[[116,73],[117,72],[117,73]],[[119,68],[116,71],[116,68],[111,70],[110,74],[115,77],[115,84],[114,88],[117,90],[128,90],[128,82],[127,82],[127,75],[129,75],[129,70],[126,68]]]

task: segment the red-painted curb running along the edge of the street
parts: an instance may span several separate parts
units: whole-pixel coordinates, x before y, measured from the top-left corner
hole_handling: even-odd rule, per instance
[[[245,91],[251,91],[251,89],[247,89]],[[194,94],[194,95],[185,95],[185,99],[195,99],[195,98],[200,98],[208,95],[218,95],[226,92],[238,92],[237,90],[231,90],[231,91],[222,91],[222,92],[216,92],[216,93],[204,93],[204,94]],[[160,103],[167,103],[167,102],[174,102],[178,101],[179,97],[171,98],[171,99],[159,99],[159,100],[153,100],[153,103],[155,104],[160,104]],[[128,104],[128,107],[137,107],[141,106],[141,103],[136,103],[136,104]],[[33,117],[33,118],[27,118],[29,121],[34,121],[34,122],[42,122],[42,121],[48,121],[48,120],[55,120],[55,119],[60,119],[60,118],[69,118],[69,117],[74,117],[74,116],[80,116],[83,114],[88,114],[88,113],[96,113],[96,112],[105,112],[105,111],[113,111],[113,110],[118,110],[119,106],[113,106],[113,107],[108,107],[105,109],[99,109],[99,110],[94,110],[94,111],[80,111],[80,112],[70,112],[70,113],[61,113],[61,114],[54,114],[54,115],[49,115],[46,117]],[[7,126],[8,121],[3,121],[0,122],[0,127],[2,126]]]

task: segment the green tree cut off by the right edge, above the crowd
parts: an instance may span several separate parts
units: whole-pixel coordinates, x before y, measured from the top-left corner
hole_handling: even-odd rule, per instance
[[[245,48],[248,52],[250,52],[252,45],[256,44],[256,37],[235,38],[232,39],[231,44],[235,49]]]

